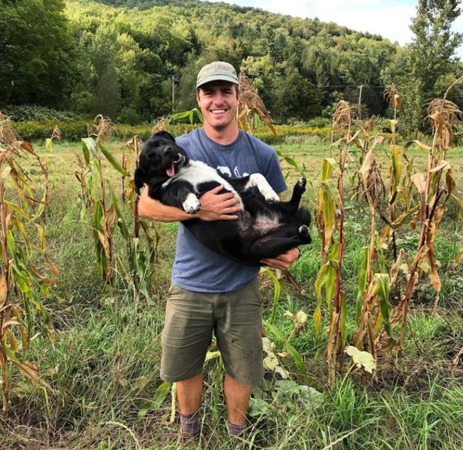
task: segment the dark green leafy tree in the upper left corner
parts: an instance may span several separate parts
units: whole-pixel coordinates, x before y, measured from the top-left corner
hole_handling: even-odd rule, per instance
[[[63,0],[0,0],[0,104],[62,107],[76,76]]]

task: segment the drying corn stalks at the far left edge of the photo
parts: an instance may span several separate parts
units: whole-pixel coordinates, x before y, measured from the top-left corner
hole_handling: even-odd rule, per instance
[[[28,206],[40,205],[30,196],[35,190],[30,185],[26,172],[17,163],[16,158],[24,157],[25,150],[37,157],[32,146],[25,141],[18,140],[19,136],[12,130],[8,119],[0,117],[0,244],[2,254],[2,276],[0,278],[0,373],[2,373],[2,399],[3,412],[9,411],[10,391],[10,364],[13,364],[23,375],[34,383],[55,391],[39,375],[37,366],[26,359],[30,344],[30,336],[34,331],[34,310],[42,317],[43,325],[51,341],[55,339],[55,330],[44,305],[42,298],[48,296],[49,285],[56,286],[37,271],[32,262],[32,250],[35,248],[29,238],[24,221],[35,225],[40,241],[40,251],[52,273],[60,277],[58,269],[47,257],[45,236],[43,228],[34,223],[28,215]],[[2,148],[2,144],[7,148]],[[11,178],[12,189],[20,201],[15,205],[7,200],[9,189],[5,179]],[[27,208],[27,210],[25,210]],[[22,306],[20,305],[22,303]],[[14,332],[15,330],[16,332]],[[21,336],[21,342],[17,336]]]

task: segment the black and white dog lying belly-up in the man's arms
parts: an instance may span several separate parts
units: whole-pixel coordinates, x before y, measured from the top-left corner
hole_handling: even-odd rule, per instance
[[[183,222],[210,250],[248,266],[261,259],[281,255],[290,248],[310,244],[310,212],[299,208],[306,189],[304,178],[294,186],[289,202],[279,202],[263,175],[228,178],[201,161],[191,160],[167,132],[155,133],[145,143],[135,170],[135,191],[148,185],[148,196],[194,214],[200,210],[198,197],[217,186],[240,199],[237,220],[215,222],[194,218]],[[258,191],[255,191],[257,188]]]

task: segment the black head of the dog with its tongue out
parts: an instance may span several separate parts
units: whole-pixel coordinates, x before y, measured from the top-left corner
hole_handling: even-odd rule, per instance
[[[187,166],[189,157],[182,147],[177,146],[174,137],[167,131],[154,133],[145,143],[140,153],[138,168],[135,170],[135,192],[145,183],[163,184],[177,171]]]

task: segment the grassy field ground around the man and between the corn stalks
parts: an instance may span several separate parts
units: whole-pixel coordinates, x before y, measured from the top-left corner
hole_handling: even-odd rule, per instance
[[[106,146],[120,161],[120,140],[109,140]],[[43,142],[35,142],[33,147],[39,155],[45,155]],[[329,147],[325,143],[301,142],[278,149],[294,158],[299,167],[305,165],[309,186],[304,202],[314,211]],[[379,148],[377,151],[378,158],[385,160],[385,152]],[[456,182],[454,194],[460,198],[462,151],[450,149],[446,158]],[[179,448],[179,435],[175,420],[170,422],[171,395],[160,403],[156,389],[162,383],[160,333],[178,225],[156,224],[161,240],[152,289],[146,298],[134,295],[130,278],[121,268],[120,262],[127,259],[126,249],[116,230],[114,286],[105,289],[96,269],[92,218],[82,202],[76,201],[81,186],[74,173],[78,168],[75,154],[81,152],[80,142],[54,143],[49,157],[52,201],[39,218],[48,257],[62,278],[55,278],[57,287],[43,299],[56,330],[55,344],[50,344],[44,330],[39,330],[31,341],[28,360],[37,363],[56,394],[12,368],[11,410],[8,417],[0,416],[0,448],[173,450]],[[415,170],[426,166],[425,151],[411,148],[407,154],[415,158]],[[43,177],[37,163],[29,158],[21,164],[42,192]],[[299,175],[285,161],[282,167],[291,185]],[[384,161],[381,171],[386,173],[386,168]],[[120,176],[106,160],[103,173],[108,178],[107,195],[113,192],[120,198]],[[348,304],[347,343],[351,345],[362,248],[368,246],[370,224],[367,204],[362,199],[355,201],[352,187],[347,181],[345,185],[347,245],[342,284]],[[122,213],[130,215],[128,208]],[[379,222],[380,232],[382,228]],[[274,323],[283,336],[289,336],[293,321],[283,313],[304,311],[309,316],[307,330],[291,339],[307,373],[301,373],[291,357],[280,357],[290,379],[266,373],[263,389],[253,394],[248,435],[232,441],[226,430],[221,394],[223,368],[220,358],[211,359],[204,372],[202,442],[191,448],[463,449],[463,358],[459,364],[452,364],[463,346],[463,272],[461,265],[454,265],[463,236],[456,201],[448,201],[435,240],[442,284],[437,310],[433,311],[433,286],[423,276],[409,307],[401,357],[394,350],[381,352],[373,375],[354,368],[345,377],[350,367],[346,356],[331,389],[327,385],[326,311],[322,313],[321,339],[311,321],[317,303],[314,284],[320,268],[320,238],[315,223],[311,235],[312,245],[302,248],[301,258],[291,268],[302,293],[287,280],[281,281]],[[418,231],[404,224],[399,228],[398,248],[413,253],[418,238]],[[142,247],[147,245],[145,239],[140,241]],[[38,262],[38,268],[46,271],[43,263]],[[262,275],[262,298],[268,320],[274,284],[267,274]],[[391,296],[390,302],[394,307],[398,297]],[[282,352],[281,339],[272,333],[269,338],[276,351]],[[316,392],[304,387],[307,385]]]

